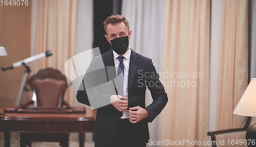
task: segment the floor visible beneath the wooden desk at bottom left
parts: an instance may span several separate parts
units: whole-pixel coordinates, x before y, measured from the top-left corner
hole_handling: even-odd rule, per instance
[[[78,147],[78,141],[69,141],[69,147]],[[0,140],[0,147],[4,147],[4,140]],[[10,147],[19,147],[19,140],[11,138]],[[32,147],[60,147],[58,142],[32,142]],[[94,147],[94,142],[85,142],[84,147]]]

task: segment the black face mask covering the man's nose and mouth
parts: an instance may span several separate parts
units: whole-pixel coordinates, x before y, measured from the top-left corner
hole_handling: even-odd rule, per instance
[[[118,54],[122,55],[126,52],[127,47],[129,46],[128,36],[119,37],[113,40],[110,40],[113,50]]]

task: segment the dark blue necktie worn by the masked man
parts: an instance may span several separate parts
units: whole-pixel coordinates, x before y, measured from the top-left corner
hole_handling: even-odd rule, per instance
[[[118,65],[118,70],[117,70],[117,76],[121,74],[121,71],[124,71],[124,65],[123,65],[123,59],[124,57],[122,56],[119,56],[117,57],[118,60],[119,60],[119,65]],[[117,78],[117,81],[118,81],[118,95],[121,95],[123,96],[123,75],[124,75],[124,72],[122,75],[120,75],[118,78]],[[119,113],[119,118],[122,117],[123,113],[120,112]]]

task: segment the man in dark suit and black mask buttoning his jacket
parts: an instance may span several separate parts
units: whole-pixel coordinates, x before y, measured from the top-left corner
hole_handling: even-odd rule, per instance
[[[90,102],[91,104],[103,101],[111,103],[97,109],[93,135],[96,147],[146,146],[150,139],[147,122],[152,122],[162,111],[168,101],[167,94],[159,81],[152,60],[135,53],[130,48],[132,31],[129,29],[128,20],[121,15],[112,15],[103,25],[105,38],[112,45],[112,50],[92,60],[84,76],[83,86],[99,85],[113,80],[118,75],[122,75],[123,79],[117,78],[118,82],[113,82],[116,93],[104,91],[104,88],[78,90],[77,101],[89,106],[91,106]],[[105,67],[119,68],[112,74],[105,72],[107,68],[97,70],[98,62],[101,60]],[[152,104],[147,107],[145,107],[146,87],[151,91],[153,98]]]

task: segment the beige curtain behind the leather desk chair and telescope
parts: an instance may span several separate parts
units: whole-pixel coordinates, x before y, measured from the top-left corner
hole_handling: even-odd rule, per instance
[[[76,3],[76,0],[38,1],[35,54],[51,50],[53,55],[37,60],[35,73],[53,67],[65,75],[64,64],[75,53]],[[68,89],[65,100],[72,105],[73,99],[73,92]]]

